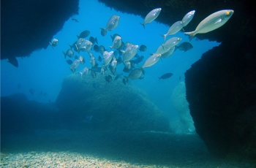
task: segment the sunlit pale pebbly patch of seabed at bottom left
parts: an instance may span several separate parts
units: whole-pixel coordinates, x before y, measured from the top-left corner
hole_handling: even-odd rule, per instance
[[[1,153],[0,167],[157,167],[156,165],[130,164],[97,156],[69,152]]]

